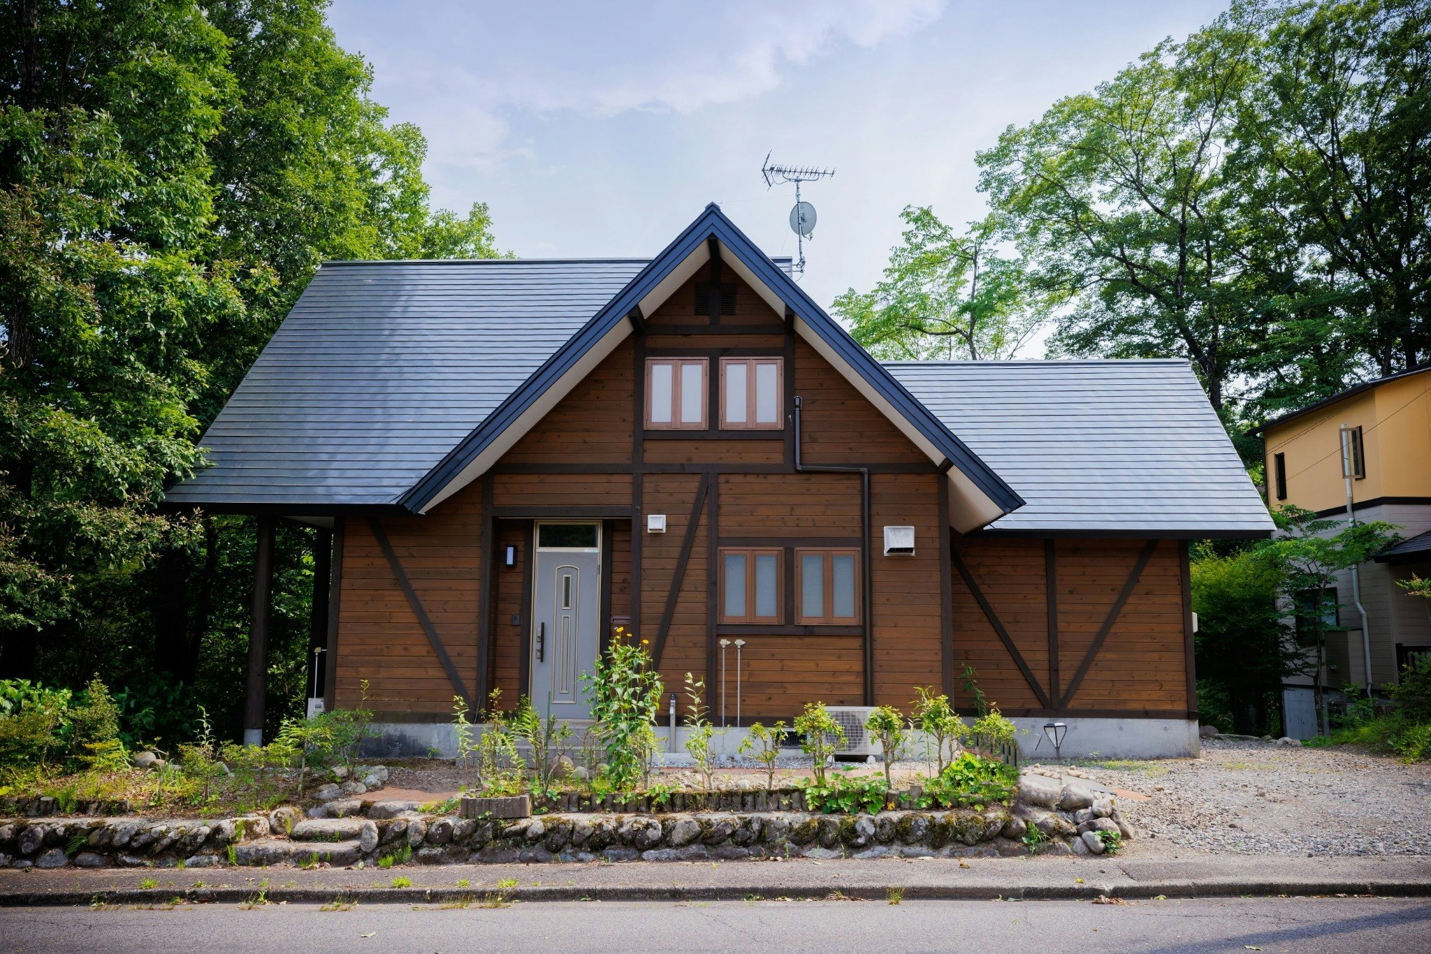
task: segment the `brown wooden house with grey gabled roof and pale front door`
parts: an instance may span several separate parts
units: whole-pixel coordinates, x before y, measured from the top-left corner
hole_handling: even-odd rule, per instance
[[[1186,362],[880,363],[714,205],[654,259],[325,263],[205,446],[167,502],[260,518],[249,739],[292,519],[394,752],[494,688],[582,718],[617,626],[728,724],[972,667],[1029,748],[1196,751],[1186,542],[1271,531]]]

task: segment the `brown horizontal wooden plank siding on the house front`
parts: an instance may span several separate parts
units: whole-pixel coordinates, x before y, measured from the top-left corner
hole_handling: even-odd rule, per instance
[[[730,280],[727,272],[726,280]],[[959,538],[943,551],[940,488],[944,478],[899,429],[866,402],[811,348],[794,340],[783,318],[737,279],[737,315],[717,332],[693,315],[691,282],[647,319],[645,335],[622,343],[498,462],[489,479],[492,542],[518,546],[514,568],[494,565],[488,606],[491,684],[504,704],[525,691],[524,634],[529,628],[527,562],[532,516],[561,509],[604,518],[610,581],[602,619],[640,618],[637,638],[661,642],[660,672],[680,692],[685,672],[708,681],[718,718],[718,638],[741,638],[740,714],[791,718],[806,702],[864,702],[864,644],[851,626],[794,626],[794,549],[841,545],[861,535],[857,473],[797,473],[788,429],[770,439],[738,439],[718,431],[678,439],[635,428],[638,369],[651,350],[685,350],[716,359],[736,349],[793,362],[783,395],[803,402],[807,463],[867,465],[870,478],[870,599],[873,702],[907,708],[914,687],[952,691],[967,704],[957,678],[964,664],[979,687],[1007,714],[1045,711],[1168,715],[1191,708],[1182,616],[1181,544],[1165,541],[1109,628],[1076,691],[1069,684],[1118,601],[1143,541],[1075,541],[1055,545],[1058,564],[1058,669],[1050,672],[1045,541]],[[750,329],[768,329],[751,333]],[[674,330],[694,333],[673,333]],[[716,382],[713,380],[713,385]],[[714,410],[714,409],[713,409]],[[591,471],[582,471],[590,466]],[[883,468],[883,469],[881,469]],[[474,482],[424,518],[386,519],[395,554],[412,578],[448,654],[471,691],[477,685],[482,485]],[[704,491],[703,491],[704,488]],[[695,531],[687,541],[693,519]],[[711,539],[714,511],[716,539]],[[664,513],[665,533],[647,533],[644,518]],[[634,516],[633,516],[634,515]],[[640,538],[633,538],[633,519]],[[913,525],[913,556],[883,556],[886,525]],[[638,545],[637,545],[638,544]],[[783,622],[713,629],[714,586],[707,569],[717,546],[778,546],[784,555]],[[683,552],[681,582],[673,594]],[[633,565],[640,552],[640,566]],[[1020,671],[957,566],[963,564],[1023,659]],[[944,569],[947,566],[947,578]],[[336,661],[338,705],[356,702],[358,681],[371,681],[371,702],[391,718],[446,719],[454,688],[418,625],[391,566],[362,519],[348,521]],[[604,586],[604,598],[607,589]],[[944,636],[946,614],[952,638]],[[514,625],[512,619],[518,624]],[[664,626],[664,638],[663,638]],[[854,632],[851,632],[854,629]],[[605,636],[605,634],[602,634]],[[734,646],[726,652],[724,715],[737,707]],[[1040,698],[1042,692],[1042,698]],[[1043,699],[1047,699],[1045,704]]]

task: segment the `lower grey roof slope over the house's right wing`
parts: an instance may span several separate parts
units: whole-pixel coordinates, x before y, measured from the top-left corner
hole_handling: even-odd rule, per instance
[[[1026,501],[992,532],[1265,536],[1262,496],[1185,360],[889,362]]]

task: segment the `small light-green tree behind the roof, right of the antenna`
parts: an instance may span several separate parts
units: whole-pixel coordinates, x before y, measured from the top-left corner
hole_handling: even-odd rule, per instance
[[[1013,358],[1042,323],[1022,263],[999,253],[993,216],[956,233],[932,209],[909,206],[903,243],[871,292],[853,287],[833,310],[884,359]]]

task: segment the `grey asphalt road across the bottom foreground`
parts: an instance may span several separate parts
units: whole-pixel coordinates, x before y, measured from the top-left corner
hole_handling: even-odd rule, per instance
[[[1425,898],[0,908],[0,951],[1398,951]]]

